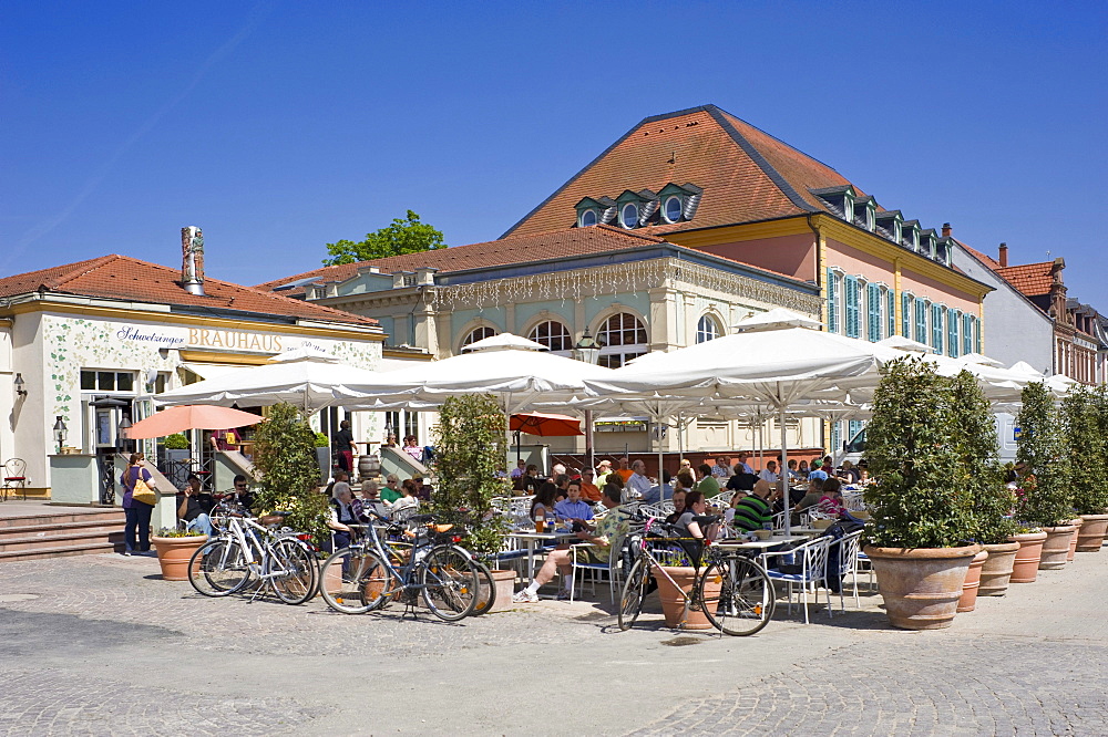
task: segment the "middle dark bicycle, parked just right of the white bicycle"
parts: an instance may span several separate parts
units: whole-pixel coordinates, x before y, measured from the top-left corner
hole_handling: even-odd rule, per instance
[[[388,526],[388,533],[402,532],[402,527],[370,513]],[[406,554],[382,542],[376,525],[355,526],[365,529],[366,536],[332,553],[320,571],[320,593],[328,606],[343,614],[362,614],[392,599],[414,606],[419,594],[431,613],[445,622],[473,613],[480,574],[473,556],[455,544],[461,537],[441,529],[450,526],[434,526],[431,515],[416,515],[409,521],[420,532]]]

